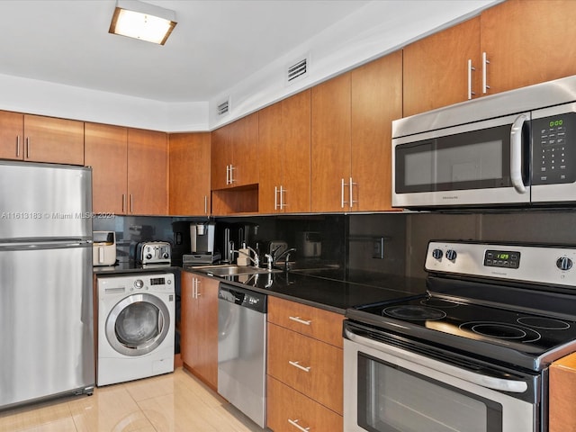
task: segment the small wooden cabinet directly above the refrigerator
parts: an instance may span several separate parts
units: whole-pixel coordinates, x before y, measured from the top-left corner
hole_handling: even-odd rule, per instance
[[[0,157],[84,165],[84,121],[2,111]]]

